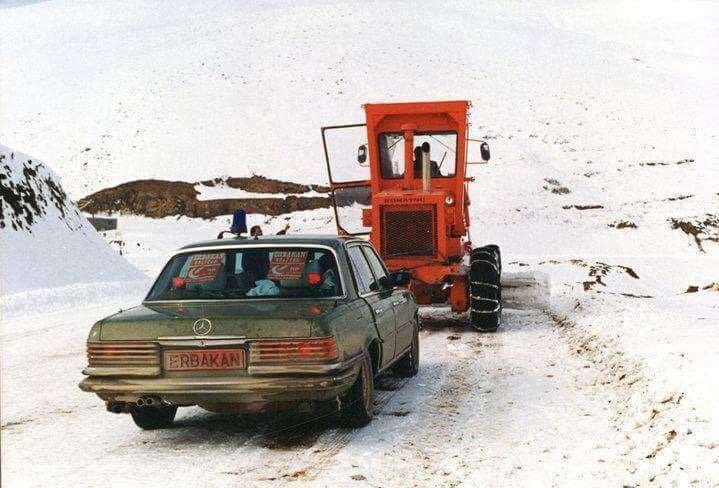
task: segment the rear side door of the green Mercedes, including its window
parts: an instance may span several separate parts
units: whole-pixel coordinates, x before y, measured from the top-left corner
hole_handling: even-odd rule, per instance
[[[362,252],[361,244],[348,245],[347,255],[350,258],[352,273],[357,283],[357,291],[374,315],[377,334],[382,341],[382,359],[380,367],[383,368],[392,362],[395,355],[396,329],[394,320],[394,307],[392,297],[381,294],[375,283],[367,258]]]

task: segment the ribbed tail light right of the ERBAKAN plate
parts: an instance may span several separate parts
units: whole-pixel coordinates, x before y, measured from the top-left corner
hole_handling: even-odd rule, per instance
[[[263,340],[250,344],[250,364],[329,362],[338,357],[334,337]]]

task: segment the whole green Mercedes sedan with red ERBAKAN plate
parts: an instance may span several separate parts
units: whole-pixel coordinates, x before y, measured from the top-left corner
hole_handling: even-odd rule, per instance
[[[256,412],[322,403],[372,418],[374,378],[417,374],[409,273],[366,241],[271,236],[200,242],[169,260],[142,305],[97,322],[83,391],[143,429],[178,407]]]

